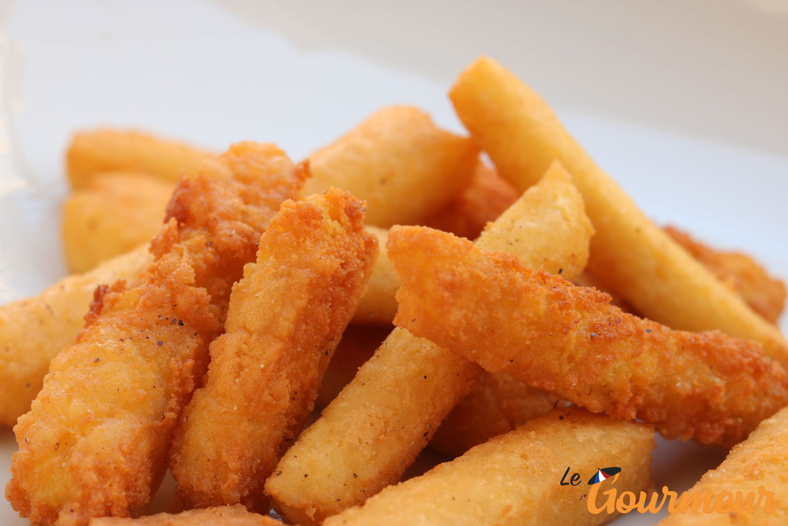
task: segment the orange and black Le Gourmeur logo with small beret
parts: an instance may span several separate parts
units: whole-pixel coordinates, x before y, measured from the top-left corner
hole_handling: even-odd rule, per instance
[[[580,473],[573,473],[569,482],[566,481],[567,475],[571,466],[567,467],[567,471],[563,472],[561,477],[561,486],[577,486],[581,481]],[[589,479],[589,486],[591,489],[586,498],[586,506],[590,513],[596,515],[597,513],[607,512],[615,513],[630,513],[630,511],[637,511],[637,513],[658,513],[667,500],[667,511],[669,513],[687,513],[691,510],[692,513],[698,513],[698,510],[703,510],[703,513],[755,513],[756,509],[760,507],[761,502],[764,504],[764,512],[774,513],[780,502],[774,500],[775,494],[771,491],[766,491],[763,486],[758,487],[758,494],[756,495],[750,491],[746,497],[741,491],[736,491],[734,495],[730,491],[722,491],[716,497],[711,491],[701,493],[695,491],[692,494],[689,491],[684,491],[679,497],[675,491],[670,491],[667,486],[662,487],[662,499],[660,500],[660,493],[653,491],[650,495],[645,491],[641,491],[639,495],[635,495],[632,491],[624,491],[618,494],[618,490],[612,487],[608,491],[603,491],[603,495],[608,498],[603,505],[597,507],[597,495],[599,494],[601,482],[611,479],[610,485],[614,484],[619,479],[621,468],[597,468],[597,472]],[[581,500],[586,495],[581,497]],[[756,500],[757,499],[757,500]]]

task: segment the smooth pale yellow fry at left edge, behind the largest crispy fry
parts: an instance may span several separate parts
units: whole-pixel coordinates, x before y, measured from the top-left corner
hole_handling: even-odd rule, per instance
[[[96,286],[136,278],[152,259],[146,244],[0,307],[0,424],[13,426],[30,410],[50,361],[84,326]]]

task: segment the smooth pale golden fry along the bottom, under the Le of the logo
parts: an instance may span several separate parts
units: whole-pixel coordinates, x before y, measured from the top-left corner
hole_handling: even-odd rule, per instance
[[[619,494],[648,491],[654,448],[654,432],[641,423],[581,408],[556,409],[422,476],[387,487],[362,507],[346,509],[323,524],[603,524],[618,513],[589,513],[585,481],[600,467],[621,468],[617,480],[600,483],[597,505],[611,487]],[[580,474],[578,486],[559,484],[567,466],[573,475]]]

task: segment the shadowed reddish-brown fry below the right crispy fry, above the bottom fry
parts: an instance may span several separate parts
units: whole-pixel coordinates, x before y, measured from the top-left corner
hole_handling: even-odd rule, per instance
[[[504,435],[556,407],[559,397],[505,372],[485,371],[440,424],[429,447],[450,457]]]

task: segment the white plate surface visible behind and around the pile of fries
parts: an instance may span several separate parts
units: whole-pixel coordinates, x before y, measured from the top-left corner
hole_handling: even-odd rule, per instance
[[[761,3],[779,10],[784,2]],[[779,95],[780,88],[788,88],[784,64],[779,70],[779,49],[769,55],[767,48],[755,65],[719,52],[721,64],[742,68],[747,76],[758,74],[758,67],[761,73],[777,71],[764,73],[768,87],[760,91],[756,82],[742,80],[731,88],[741,105],[726,108],[715,106],[713,97],[709,102],[701,91],[706,86],[719,95],[712,90],[719,83],[703,84],[693,72],[682,76],[681,68],[664,78],[666,63],[686,64],[685,55],[701,56],[699,50],[705,49],[703,38],[688,40],[684,33],[676,37],[686,52],[679,54],[649,51],[635,36],[633,41],[641,42],[640,55],[621,47],[605,51],[600,43],[608,42],[608,32],[618,25],[604,27],[604,35],[599,32],[598,39],[589,41],[597,54],[597,73],[626,69],[634,84],[650,79],[652,91],[637,91],[634,97],[634,84],[625,86],[620,79],[600,75],[593,76],[587,90],[562,88],[560,81],[568,78],[562,60],[585,51],[578,34],[595,35],[589,27],[601,24],[598,13],[590,25],[583,25],[588,14],[583,11],[567,11],[561,20],[551,8],[531,6],[534,16],[526,19],[519,4],[497,2],[493,13],[503,24],[500,35],[490,17],[481,22],[474,18],[481,8],[473,5],[451,12],[448,6],[453,4],[441,2],[421,11],[407,6],[414,9],[413,17],[403,16],[400,9],[389,18],[383,7],[353,5],[351,0],[330,12],[300,3],[226,4],[80,0],[19,2],[13,12],[0,8],[0,16],[9,17],[0,37],[0,302],[37,293],[65,273],[58,205],[65,193],[62,152],[72,130],[136,126],[217,150],[237,140],[269,140],[293,159],[329,143],[386,104],[416,104],[440,125],[461,130],[445,91],[463,64],[489,50],[500,50],[497,56],[504,62],[515,62],[512,66],[526,81],[545,86],[548,99],[554,95],[568,128],[658,222],[685,226],[722,247],[742,248],[775,274],[788,277],[788,159],[769,153],[784,148],[781,140],[788,136],[779,133],[788,121],[788,103]],[[660,2],[643,5],[643,13],[619,10],[608,13],[610,20],[628,24],[632,35],[638,28],[653,29],[648,9],[665,16],[660,9],[667,8],[658,7]],[[745,9],[742,6],[745,3],[736,9]],[[682,14],[675,12],[678,7],[670,9],[673,16]],[[697,9],[689,19],[703,21],[717,13],[699,14]],[[464,33],[456,26],[426,23],[441,13],[454,24],[465,24]],[[753,13],[742,17],[742,24],[764,35],[773,35],[772,26],[786,20]],[[513,20],[522,32],[512,28]],[[697,31],[703,35],[703,28]],[[533,35],[545,42],[540,63],[549,67],[529,78],[522,64],[533,62],[535,52],[525,47]],[[469,45],[480,38],[483,44]],[[385,49],[392,39],[399,53]],[[740,50],[750,49],[742,46]],[[522,62],[517,50],[522,50]],[[624,51],[629,60],[619,64]],[[637,56],[650,62],[638,65]],[[687,87],[688,95],[675,101],[676,115],[655,110],[660,82],[678,86],[678,95]],[[586,92],[607,95],[586,98]],[[632,114],[629,106],[616,106],[617,99],[627,98],[638,99],[632,107],[644,110]],[[706,113],[693,113],[696,106],[705,107]],[[719,117],[726,111],[728,120]],[[600,113],[606,117],[594,116]],[[687,115],[695,117],[692,122]],[[748,116],[749,121],[742,121]],[[684,132],[705,139],[690,139]],[[753,147],[759,144],[762,149]],[[667,484],[675,491],[690,487],[724,457],[724,452],[692,443],[658,443],[656,486]],[[0,482],[8,477],[15,449],[11,431],[0,430]],[[556,466],[556,483],[563,469]],[[165,509],[171,492],[169,481],[153,508]],[[615,524],[654,520],[630,514]],[[0,523],[28,524],[5,501],[0,502]]]

